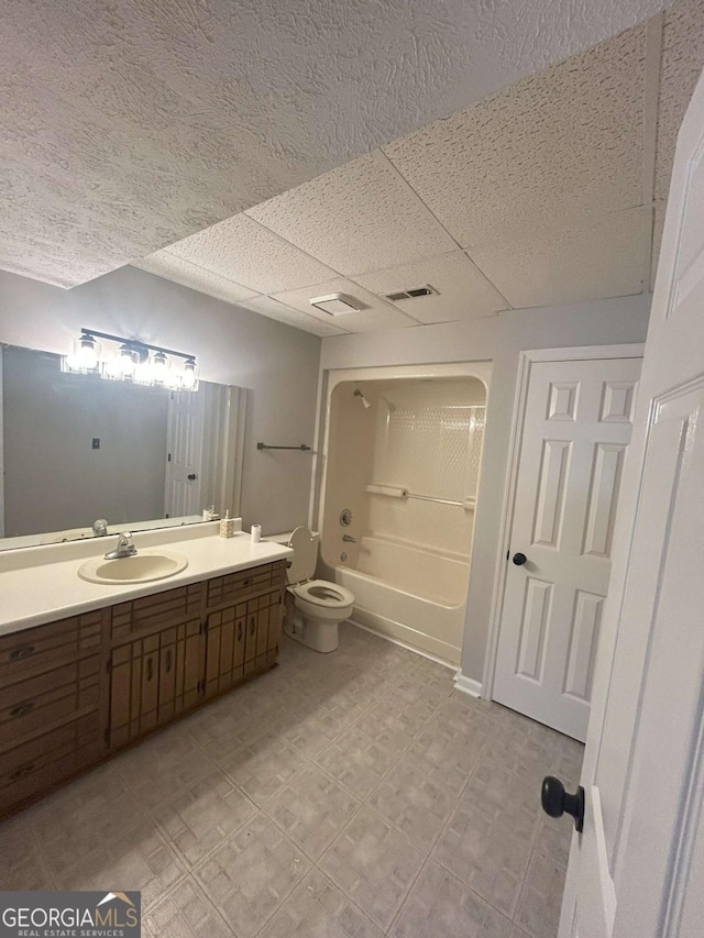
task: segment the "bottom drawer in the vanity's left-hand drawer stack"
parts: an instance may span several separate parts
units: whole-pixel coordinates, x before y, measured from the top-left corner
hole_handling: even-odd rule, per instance
[[[0,814],[95,762],[101,752],[96,711],[0,753]]]

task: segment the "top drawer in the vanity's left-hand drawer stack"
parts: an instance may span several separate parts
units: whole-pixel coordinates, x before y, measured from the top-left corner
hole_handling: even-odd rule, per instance
[[[95,653],[102,611],[72,616],[0,638],[0,687]]]

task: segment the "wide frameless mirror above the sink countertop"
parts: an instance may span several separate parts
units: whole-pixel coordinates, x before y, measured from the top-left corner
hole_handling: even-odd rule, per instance
[[[170,391],[65,374],[1,346],[0,550],[239,514],[245,391]]]

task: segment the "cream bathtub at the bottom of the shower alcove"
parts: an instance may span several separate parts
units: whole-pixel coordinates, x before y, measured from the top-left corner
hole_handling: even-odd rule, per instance
[[[340,564],[333,572],[336,583],[354,593],[353,622],[450,664],[460,663],[469,558],[365,537],[355,567]]]

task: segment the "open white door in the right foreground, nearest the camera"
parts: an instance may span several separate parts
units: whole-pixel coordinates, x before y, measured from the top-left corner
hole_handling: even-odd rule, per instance
[[[700,78],[678,140],[624,471],[561,938],[704,935],[703,299]]]

